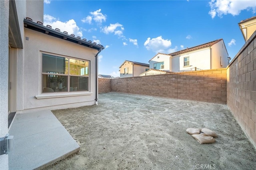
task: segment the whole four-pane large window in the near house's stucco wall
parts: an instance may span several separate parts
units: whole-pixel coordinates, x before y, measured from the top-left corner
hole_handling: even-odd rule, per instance
[[[42,92],[89,90],[89,61],[42,54]]]

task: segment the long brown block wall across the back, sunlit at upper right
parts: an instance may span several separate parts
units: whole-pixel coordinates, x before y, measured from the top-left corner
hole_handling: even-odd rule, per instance
[[[112,79],[111,91],[226,104],[226,68]]]

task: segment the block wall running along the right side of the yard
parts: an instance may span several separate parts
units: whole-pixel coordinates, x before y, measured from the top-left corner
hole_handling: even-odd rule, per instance
[[[227,106],[256,147],[256,32],[227,69]]]

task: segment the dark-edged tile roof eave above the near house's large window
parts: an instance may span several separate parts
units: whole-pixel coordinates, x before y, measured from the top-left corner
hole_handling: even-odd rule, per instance
[[[64,31],[64,32],[60,32],[60,29],[56,28],[56,29],[52,29],[51,25],[42,25],[42,22],[37,21],[37,23],[33,22],[31,18],[26,18],[24,19],[24,27],[28,28],[28,29],[32,29],[34,31],[38,31],[41,33],[45,33],[48,35],[51,35],[53,37],[57,37],[60,39],[64,39],[73,43],[77,43],[89,48],[93,48],[93,49],[104,49],[104,47],[101,44],[97,44],[97,43],[93,43],[92,41],[87,41],[86,39],[81,39],[81,37],[75,37],[74,34],[70,34],[68,35],[68,32]]]

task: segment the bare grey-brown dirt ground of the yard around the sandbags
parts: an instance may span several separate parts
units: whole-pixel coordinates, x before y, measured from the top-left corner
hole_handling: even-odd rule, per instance
[[[52,111],[80,152],[48,170],[254,170],[256,150],[226,105],[120,93],[98,106]],[[200,144],[188,127],[208,128]]]

